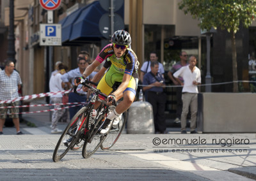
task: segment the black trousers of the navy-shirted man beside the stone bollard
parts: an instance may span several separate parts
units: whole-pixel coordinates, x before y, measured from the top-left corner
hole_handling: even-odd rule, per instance
[[[163,92],[148,91],[148,103],[153,106],[154,124],[156,131],[163,133],[166,130],[164,108],[166,95]]]

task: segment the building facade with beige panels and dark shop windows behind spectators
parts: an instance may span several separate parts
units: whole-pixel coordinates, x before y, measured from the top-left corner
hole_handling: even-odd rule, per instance
[[[82,34],[81,37],[73,40],[69,37],[68,41],[63,41],[63,46],[52,47],[51,51],[49,47],[39,45],[40,24],[47,23],[47,11],[40,6],[38,0],[15,0],[14,2],[16,68],[24,83],[24,95],[47,92],[49,74],[54,69],[54,62],[62,61],[67,64],[69,69],[76,68],[76,57],[81,50],[90,52],[90,58],[93,60],[99,54],[102,46],[109,42],[109,39],[104,36],[93,36],[93,38],[84,36],[84,38]],[[161,0],[161,3],[157,0],[124,0],[123,14],[121,12],[119,15],[124,19],[124,29],[131,33],[131,47],[138,55],[140,65],[148,60],[150,52],[156,51],[159,61],[164,64],[167,73],[172,65],[179,61],[179,52],[185,50],[189,55],[198,57],[198,67],[202,69],[204,83],[206,73],[205,35],[201,34],[198,20],[194,20],[190,15],[184,15],[184,12],[179,10],[179,2],[180,0]],[[62,30],[68,23],[75,26],[74,23],[79,22],[79,17],[83,15],[83,12],[87,12],[88,7],[91,7],[90,4],[95,9],[88,11],[88,19],[97,18],[97,15],[103,11],[99,8],[97,1],[62,0],[58,10],[54,10],[54,23],[63,24]],[[5,52],[8,47],[8,5],[9,1],[1,0],[0,52],[3,55],[0,57],[1,64],[7,57]],[[78,11],[81,13],[77,13]],[[96,15],[93,14],[95,11]],[[77,18],[73,18],[72,22],[67,22],[76,13]],[[80,27],[81,32],[84,28],[86,29],[86,25],[90,27],[89,29],[95,28],[95,31],[99,31],[97,30],[99,22],[90,22],[90,24],[87,22],[88,24],[86,24],[86,20]],[[95,27],[93,27],[94,23]],[[251,69],[249,73],[248,62],[254,60],[255,57],[255,27],[255,22],[249,29],[241,26],[236,34],[239,80],[250,80],[254,77],[255,68]],[[62,34],[65,33],[62,31]],[[51,64],[49,64],[49,57],[52,58]],[[253,65],[254,63],[255,61]],[[211,76],[212,83],[232,81],[230,36],[226,31],[219,29],[217,33],[212,34],[211,38]],[[172,85],[172,82],[168,83]],[[250,91],[248,83],[244,83],[243,87],[245,91]],[[201,87],[201,91],[204,92],[204,90],[205,88]],[[214,85],[212,91],[232,92],[232,85]],[[169,92],[173,92],[173,89],[170,88]]]

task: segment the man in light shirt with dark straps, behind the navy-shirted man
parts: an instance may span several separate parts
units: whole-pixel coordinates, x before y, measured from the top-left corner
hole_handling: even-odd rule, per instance
[[[156,52],[151,52],[150,55],[150,61],[146,61],[142,64],[141,66],[141,69],[140,69],[140,82],[139,84],[141,84],[143,82],[143,76],[150,72],[151,71],[151,68],[150,68],[150,64],[152,61],[157,61],[158,60],[158,57],[157,57],[157,54]],[[161,73],[161,75],[164,77],[164,66],[163,64],[161,64],[159,62],[159,69],[158,69],[158,72]],[[140,87],[137,89],[137,92],[140,92]],[[148,98],[147,98],[147,93],[145,92],[145,100],[148,101]]]

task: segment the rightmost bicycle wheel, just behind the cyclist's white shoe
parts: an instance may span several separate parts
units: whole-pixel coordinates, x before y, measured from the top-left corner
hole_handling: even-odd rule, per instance
[[[118,138],[122,134],[122,131],[124,130],[126,120],[127,112],[124,112],[122,114],[121,120],[118,122],[116,126],[112,126],[112,129],[107,134],[106,139],[100,145],[100,148],[102,150],[108,150],[109,148],[113,147],[113,145],[115,145],[116,141],[118,140]]]

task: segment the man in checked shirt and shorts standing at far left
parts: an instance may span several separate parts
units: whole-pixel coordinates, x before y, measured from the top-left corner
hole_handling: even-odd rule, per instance
[[[13,61],[6,61],[4,70],[0,72],[0,100],[2,101],[19,97],[18,90],[22,82],[19,73],[15,71],[14,68]],[[16,101],[0,104],[0,107],[18,105],[20,105],[20,103]],[[0,109],[0,134],[3,134],[3,126],[8,110],[10,110],[10,113],[19,113],[19,108]],[[24,134],[20,131],[19,114],[11,114],[9,117],[13,119],[17,134]]]

